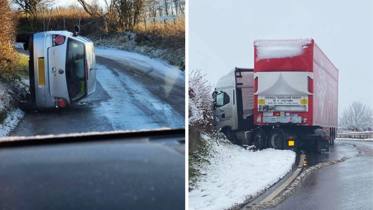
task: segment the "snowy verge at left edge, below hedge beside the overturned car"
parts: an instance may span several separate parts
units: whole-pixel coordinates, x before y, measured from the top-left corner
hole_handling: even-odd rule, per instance
[[[17,101],[25,97],[29,81],[26,78],[11,83],[0,80],[0,138],[7,136],[23,117]]]

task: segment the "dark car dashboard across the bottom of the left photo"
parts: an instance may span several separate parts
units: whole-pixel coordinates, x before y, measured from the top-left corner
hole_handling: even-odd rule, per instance
[[[0,209],[185,209],[185,130],[1,139]]]

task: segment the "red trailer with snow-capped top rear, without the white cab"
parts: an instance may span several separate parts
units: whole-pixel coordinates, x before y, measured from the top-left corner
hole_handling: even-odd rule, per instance
[[[338,69],[313,39],[256,40],[254,60],[256,146],[329,151],[338,127]]]

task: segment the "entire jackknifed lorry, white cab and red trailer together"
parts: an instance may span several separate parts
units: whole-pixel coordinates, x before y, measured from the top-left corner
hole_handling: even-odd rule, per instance
[[[237,144],[329,151],[337,133],[338,69],[313,39],[256,40],[254,69],[216,84],[214,125]]]

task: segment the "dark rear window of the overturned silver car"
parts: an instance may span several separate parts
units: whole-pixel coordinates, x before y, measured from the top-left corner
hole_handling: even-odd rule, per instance
[[[85,96],[85,50],[84,44],[68,38],[66,52],[66,83],[70,102]]]

